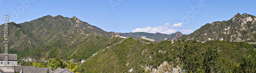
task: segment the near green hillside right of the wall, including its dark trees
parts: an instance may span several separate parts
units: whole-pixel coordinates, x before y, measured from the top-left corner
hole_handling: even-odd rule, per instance
[[[255,44],[246,42],[177,40],[145,44],[128,38],[88,58],[77,71],[128,72],[133,68],[132,72],[149,72],[152,69],[145,70],[145,66],[158,69],[166,61],[172,64],[170,68],[180,66],[185,72],[253,72],[254,48]],[[244,55],[250,55],[249,59],[244,60]]]

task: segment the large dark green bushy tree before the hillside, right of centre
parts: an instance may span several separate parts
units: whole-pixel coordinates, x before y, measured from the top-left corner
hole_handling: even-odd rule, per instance
[[[186,72],[214,72],[216,61],[219,59],[217,47],[208,47],[200,51],[197,42],[182,43],[180,48],[180,64]]]

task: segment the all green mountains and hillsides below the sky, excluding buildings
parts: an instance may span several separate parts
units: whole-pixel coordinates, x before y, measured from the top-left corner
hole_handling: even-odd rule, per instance
[[[17,54],[23,65],[68,67],[75,72],[255,72],[256,44],[247,43],[255,41],[255,20],[253,15],[238,13],[228,21],[207,23],[189,35],[120,33],[130,37],[123,39],[75,16],[47,15],[24,23],[9,22],[8,53]],[[157,42],[142,43],[137,39],[141,36]],[[173,37],[181,40],[170,40]],[[224,40],[216,40],[219,38]],[[1,45],[3,40],[0,36]],[[86,62],[78,67],[82,59]]]

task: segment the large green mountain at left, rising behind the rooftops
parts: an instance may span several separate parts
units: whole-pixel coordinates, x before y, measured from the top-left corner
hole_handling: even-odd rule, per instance
[[[76,17],[47,15],[29,22],[8,24],[9,53],[17,53],[19,59],[86,59],[103,47],[115,43],[109,40],[111,32],[105,32]],[[4,44],[3,36],[0,43]],[[3,53],[4,46],[1,47]]]

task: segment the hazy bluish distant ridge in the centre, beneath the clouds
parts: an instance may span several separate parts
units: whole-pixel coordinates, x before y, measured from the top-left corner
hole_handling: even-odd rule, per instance
[[[135,37],[141,38],[141,36],[146,36],[146,38],[155,39],[155,41],[160,42],[163,40],[172,40],[173,38],[180,37],[183,34],[181,32],[176,32],[173,34],[162,34],[162,33],[146,33],[146,32],[135,32],[135,33],[119,33],[121,36],[125,37]]]

